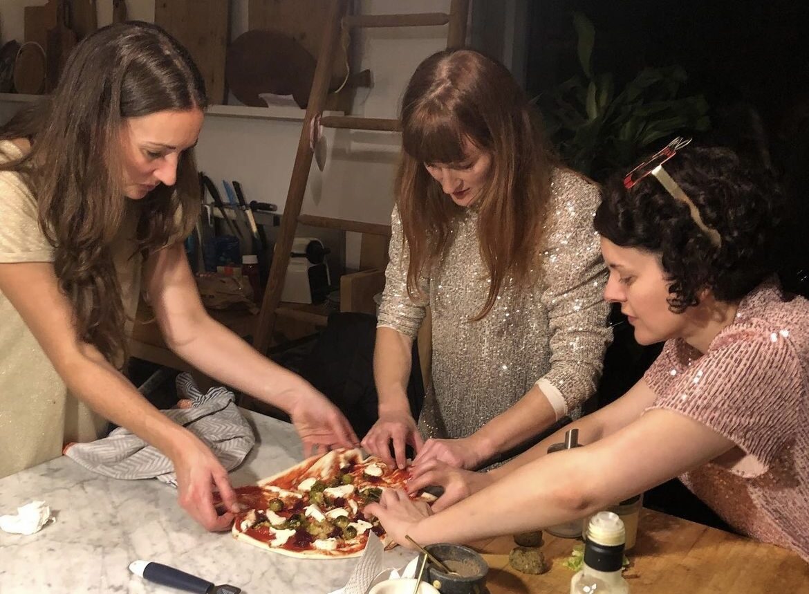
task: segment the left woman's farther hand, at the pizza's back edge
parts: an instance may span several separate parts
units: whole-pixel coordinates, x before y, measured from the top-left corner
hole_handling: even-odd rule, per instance
[[[348,419],[327,397],[303,383],[291,396],[294,405],[287,411],[303,441],[303,455],[324,453],[329,448],[355,448],[357,434]]]

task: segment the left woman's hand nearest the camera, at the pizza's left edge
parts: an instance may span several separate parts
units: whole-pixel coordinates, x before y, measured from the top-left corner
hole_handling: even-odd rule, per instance
[[[184,430],[183,430],[184,431]],[[234,512],[239,511],[236,494],[227,477],[227,470],[217,460],[205,443],[186,432],[188,439],[172,456],[177,475],[177,499],[188,515],[207,530],[221,531],[230,528]],[[214,508],[213,490],[218,490],[226,511],[222,516]]]

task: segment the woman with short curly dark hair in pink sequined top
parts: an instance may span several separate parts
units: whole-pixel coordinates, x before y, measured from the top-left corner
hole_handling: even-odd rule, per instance
[[[544,528],[680,477],[739,532],[809,561],[809,301],[775,280],[780,192],[733,152],[686,144],[613,180],[595,215],[604,296],[637,342],[666,342],[659,359],[499,469],[419,469],[408,488],[443,486],[437,513],[396,492],[366,508],[397,541]],[[572,427],[586,445],[546,456]]]

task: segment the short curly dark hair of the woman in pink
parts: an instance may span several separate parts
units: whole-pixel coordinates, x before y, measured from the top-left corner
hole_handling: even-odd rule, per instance
[[[595,230],[613,244],[659,254],[671,297],[682,313],[709,289],[720,301],[737,301],[775,274],[775,228],[783,196],[769,170],[718,146],[684,147],[664,165],[722,237],[717,248],[697,227],[688,206],[674,199],[654,176],[625,189],[613,176],[601,193]]]

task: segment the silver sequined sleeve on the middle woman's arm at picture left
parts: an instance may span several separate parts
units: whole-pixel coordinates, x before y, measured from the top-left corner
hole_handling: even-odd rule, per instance
[[[428,282],[421,280],[423,298],[408,295],[407,269],[409,257],[404,244],[399,210],[393,208],[391,215],[391,244],[388,248],[388,267],[385,269],[385,289],[379,305],[377,328],[392,328],[407,337],[415,338],[424,320],[428,303]]]

